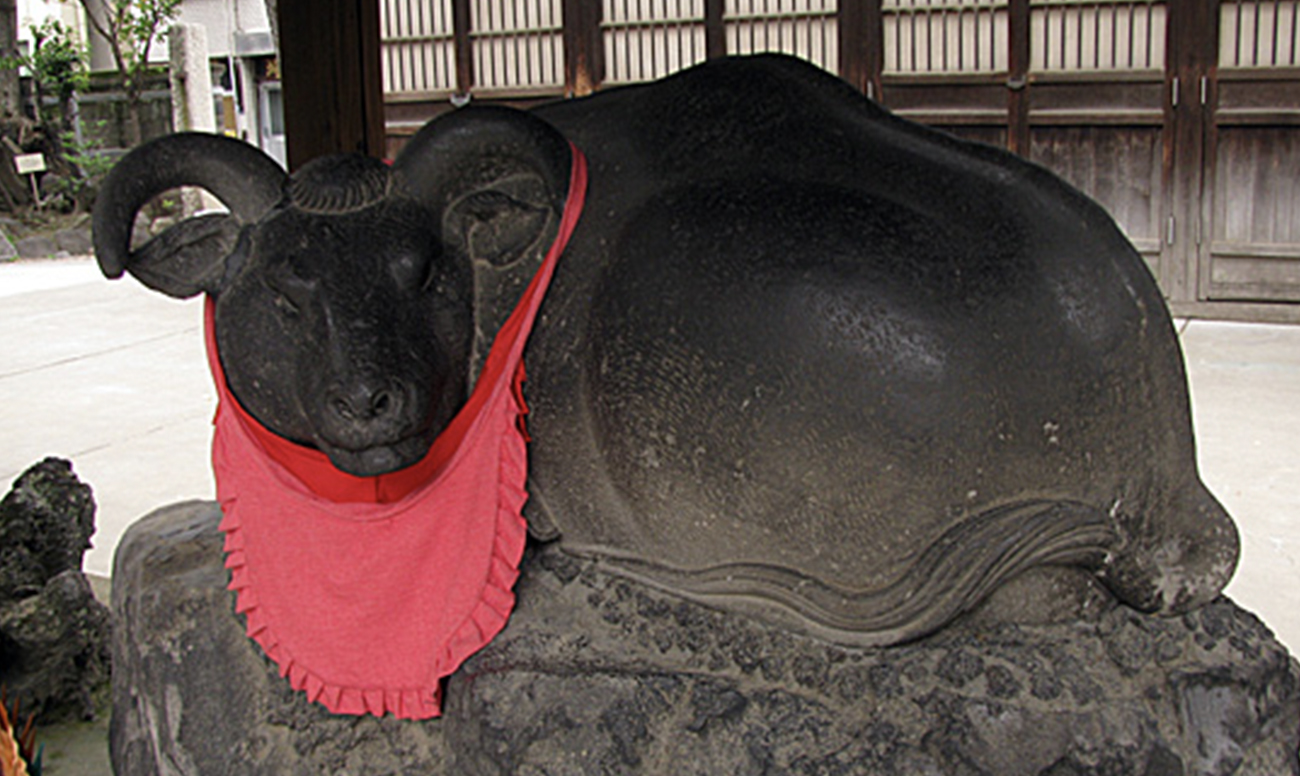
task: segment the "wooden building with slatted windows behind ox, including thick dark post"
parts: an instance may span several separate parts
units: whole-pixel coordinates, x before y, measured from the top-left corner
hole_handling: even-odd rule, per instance
[[[1176,315],[1300,321],[1300,0],[281,0],[280,16],[286,100],[296,45],[330,116],[367,125],[320,149],[391,155],[465,100],[526,107],[788,52],[1071,181]],[[322,61],[322,40],[351,60]],[[291,160],[339,129],[318,116],[303,139],[289,117]]]

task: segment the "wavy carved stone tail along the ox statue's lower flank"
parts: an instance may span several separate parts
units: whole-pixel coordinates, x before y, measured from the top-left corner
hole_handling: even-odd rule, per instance
[[[853,646],[888,646],[932,633],[1004,582],[1048,564],[1098,569],[1115,533],[1105,512],[1078,502],[1000,506],[944,533],[894,582],[846,590],[770,564],[699,571],[621,560],[630,576],[719,608]]]

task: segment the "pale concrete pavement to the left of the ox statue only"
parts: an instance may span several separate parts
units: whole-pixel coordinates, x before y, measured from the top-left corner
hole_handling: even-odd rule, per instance
[[[0,265],[0,487],[72,460],[99,506],[90,572],[112,571],[133,520],[213,498],[202,331],[199,300],[109,282],[88,259]]]

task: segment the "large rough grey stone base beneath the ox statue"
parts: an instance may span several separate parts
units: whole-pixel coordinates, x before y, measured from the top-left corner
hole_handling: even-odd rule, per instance
[[[332,716],[244,638],[218,517],[169,507],[118,550],[118,776],[1300,775],[1300,664],[1227,599],[1032,627],[985,610],[854,650],[551,550],[525,558],[511,624],[442,719]]]

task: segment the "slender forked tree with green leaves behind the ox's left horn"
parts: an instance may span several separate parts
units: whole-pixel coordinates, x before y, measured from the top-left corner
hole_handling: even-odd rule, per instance
[[[140,143],[140,105],[150,52],[177,14],[181,0],[81,0],[95,31],[108,42],[126,95],[126,143]]]

